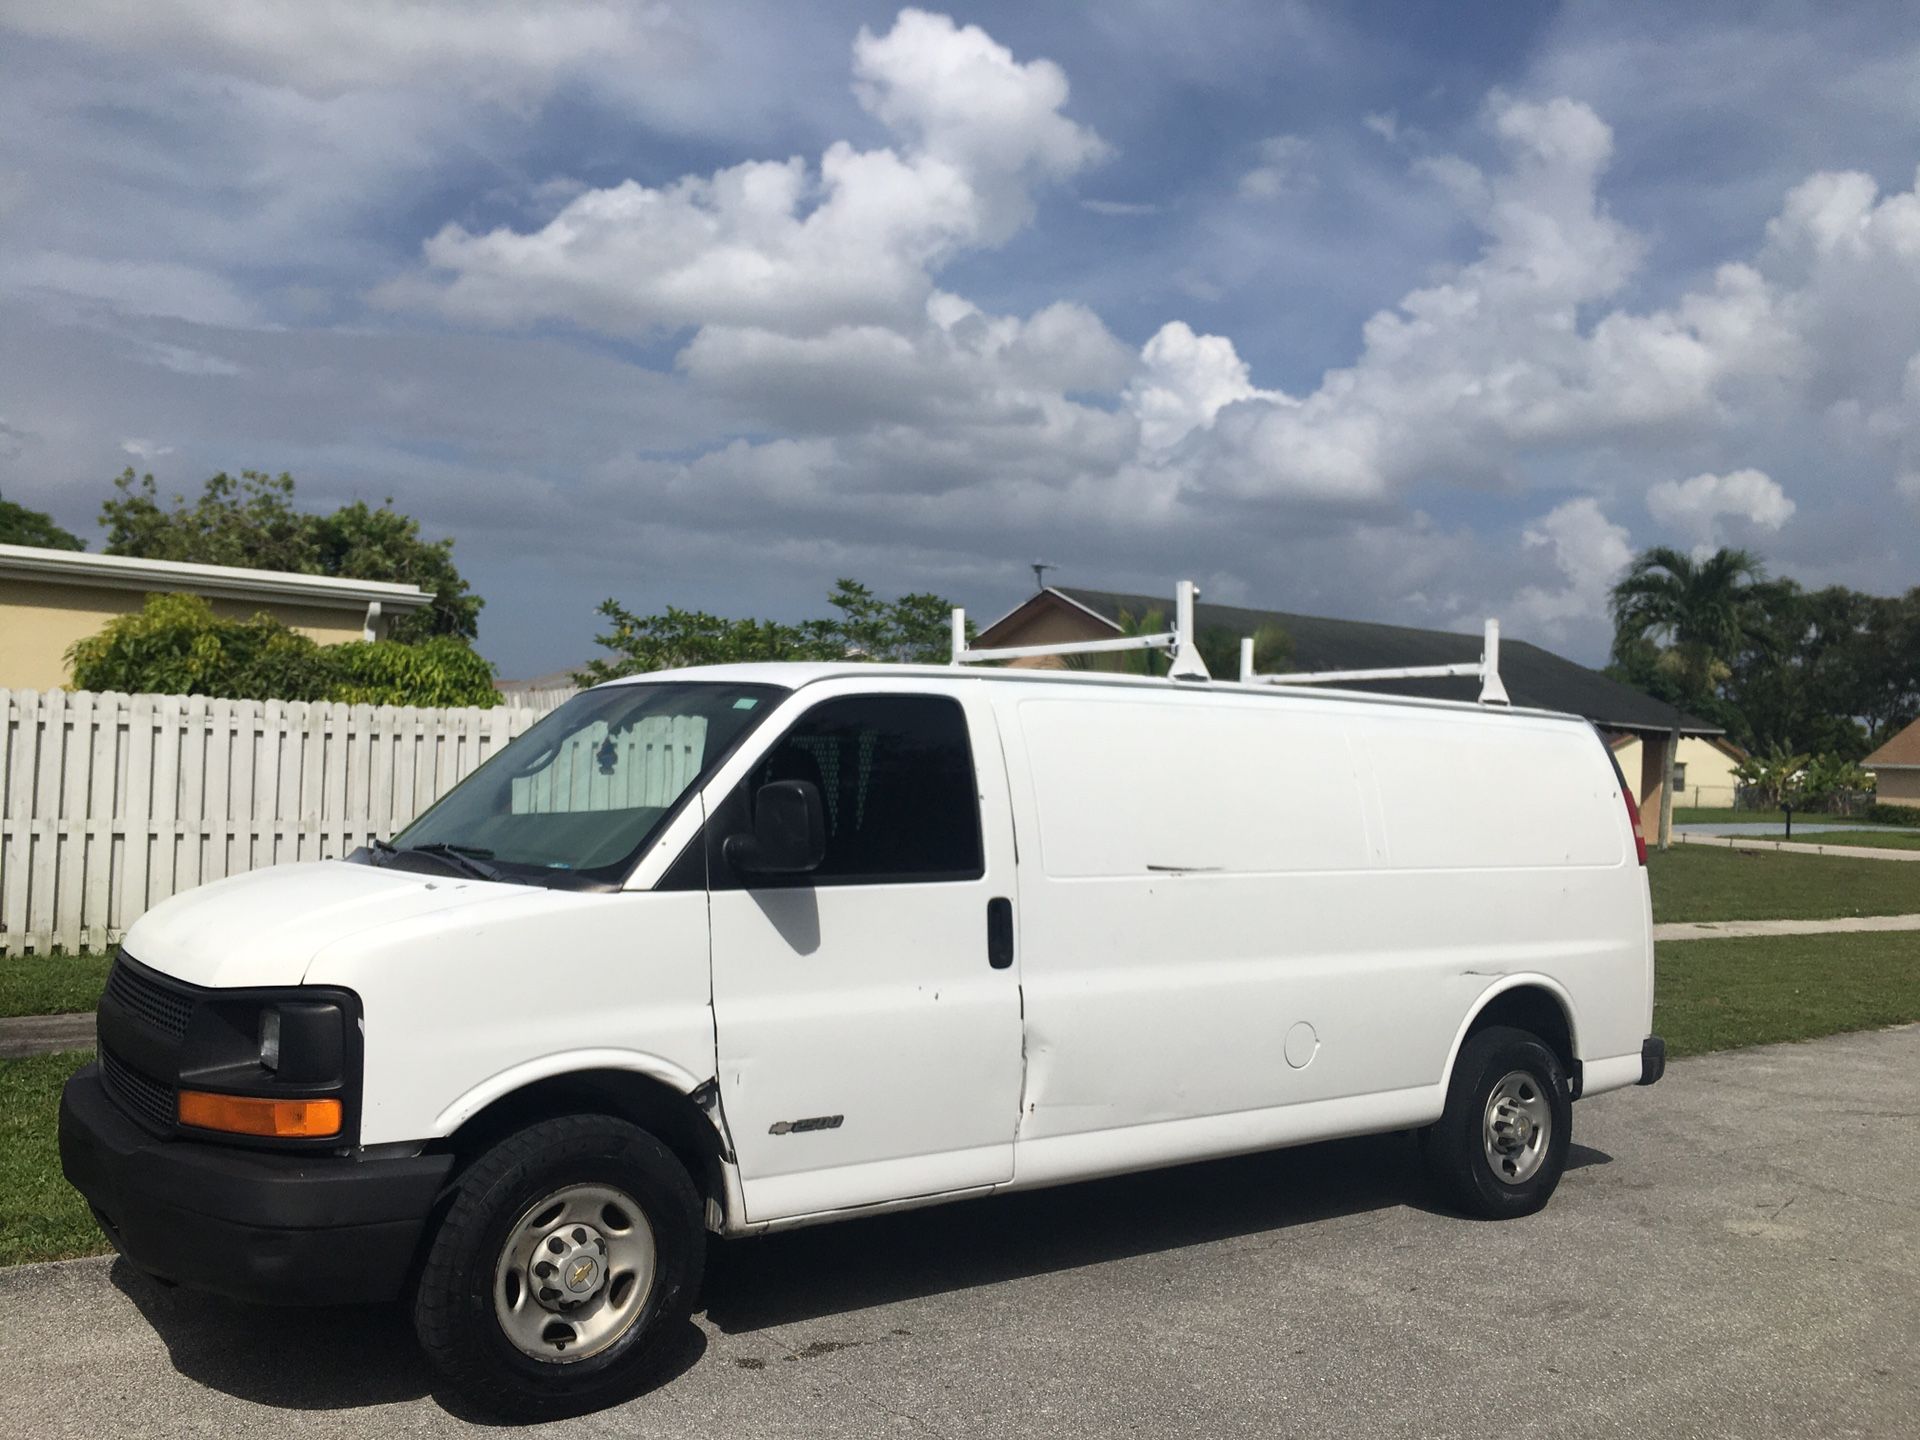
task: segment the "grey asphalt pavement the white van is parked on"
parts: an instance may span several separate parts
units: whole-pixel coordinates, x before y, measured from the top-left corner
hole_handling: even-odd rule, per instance
[[[1576,1108],[1544,1215],[1375,1139],[728,1248],[685,1369],[555,1436],[1757,1436],[1920,1427],[1920,1027]],[[392,1311],[0,1271],[0,1432],[465,1428]]]

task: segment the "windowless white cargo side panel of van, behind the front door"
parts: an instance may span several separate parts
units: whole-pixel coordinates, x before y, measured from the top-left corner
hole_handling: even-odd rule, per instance
[[[1177,689],[1000,712],[1021,835],[1021,1183],[1029,1156],[1050,1150],[1052,1171],[1083,1152],[1043,1144],[1062,1137],[1108,1135],[1085,1150],[1108,1169],[1123,1131],[1148,1142],[1140,1127],[1181,1158],[1377,1129],[1367,1096],[1427,1123],[1461,1027],[1507,975],[1572,996],[1582,1052],[1592,1037],[1594,1054],[1638,1054],[1645,881],[1582,724]],[[1254,1119],[1286,1106],[1308,1110]],[[1244,1123],[1208,1119],[1223,1116]]]

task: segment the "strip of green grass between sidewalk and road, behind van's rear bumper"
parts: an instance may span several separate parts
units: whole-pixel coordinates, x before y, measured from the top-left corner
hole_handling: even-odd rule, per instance
[[[1920,1020],[1920,935],[1668,941],[1653,1029],[1672,1056]]]

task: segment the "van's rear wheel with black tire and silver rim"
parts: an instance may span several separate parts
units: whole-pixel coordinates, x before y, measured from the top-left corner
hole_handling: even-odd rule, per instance
[[[1511,1081],[1517,1075],[1524,1079]],[[1501,1150],[1500,1144],[1515,1144],[1511,1125],[1496,1127],[1498,1142],[1488,1139],[1494,1091],[1509,1081],[1526,1106],[1548,1117],[1548,1133],[1538,1146]],[[1528,1117],[1524,1125],[1534,1139],[1534,1121]],[[1448,1083],[1446,1112],[1421,1135],[1434,1183],[1452,1204],[1482,1219],[1517,1219],[1546,1206],[1567,1169],[1571,1142],[1572,1100],[1565,1066],[1540,1037],[1511,1025],[1488,1025],[1461,1046]],[[1488,1156],[1490,1144],[1498,1164]]]

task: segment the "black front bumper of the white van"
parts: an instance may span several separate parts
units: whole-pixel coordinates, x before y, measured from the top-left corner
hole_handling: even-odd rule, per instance
[[[84,1066],[60,1096],[60,1167],[127,1260],[234,1300],[399,1296],[453,1156],[324,1156],[159,1139]]]

